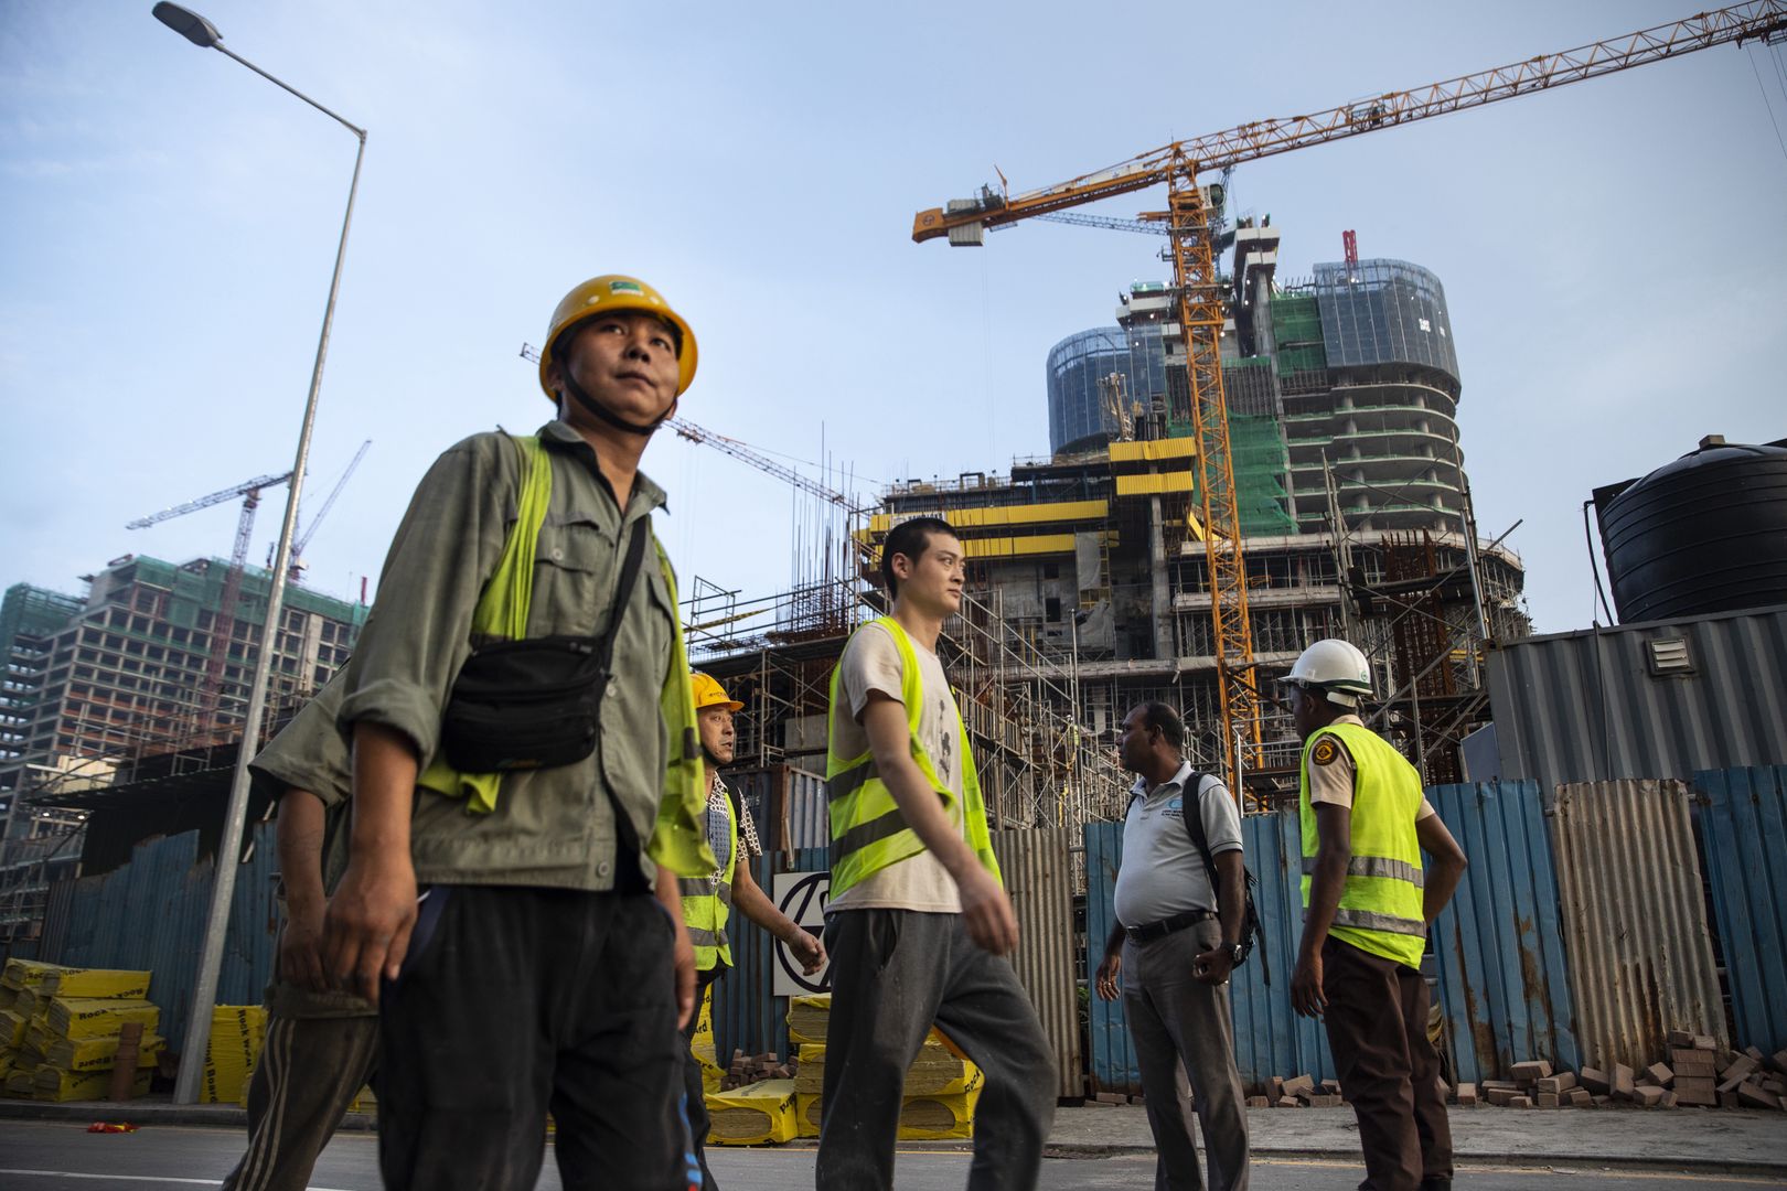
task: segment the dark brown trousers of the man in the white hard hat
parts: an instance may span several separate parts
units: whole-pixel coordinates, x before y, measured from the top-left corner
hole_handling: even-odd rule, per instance
[[[1330,936],[1322,943],[1328,1048],[1353,1102],[1372,1191],[1415,1191],[1453,1173],[1451,1123],[1428,1041],[1428,982],[1394,959]]]

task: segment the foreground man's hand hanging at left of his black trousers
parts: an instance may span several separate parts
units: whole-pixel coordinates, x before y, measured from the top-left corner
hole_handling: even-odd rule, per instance
[[[354,852],[323,914],[323,973],[379,1004],[379,979],[397,979],[416,927],[416,870],[407,848]]]

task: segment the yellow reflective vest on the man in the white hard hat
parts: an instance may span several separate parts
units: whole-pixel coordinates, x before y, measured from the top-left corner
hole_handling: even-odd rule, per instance
[[[1303,909],[1310,907],[1319,846],[1315,809],[1310,805],[1310,752],[1324,736],[1340,737],[1353,757],[1353,859],[1328,934],[1372,955],[1419,968],[1428,939],[1421,912],[1421,843],[1415,837],[1421,775],[1381,736],[1356,723],[1330,723],[1303,741]]]

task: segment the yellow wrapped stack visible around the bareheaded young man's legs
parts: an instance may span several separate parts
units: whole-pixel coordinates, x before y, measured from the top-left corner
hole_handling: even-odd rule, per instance
[[[801,1046],[795,1073],[795,1123],[801,1137],[817,1137],[826,1087],[826,1021],[831,996],[795,996],[788,1004],[788,1043]],[[901,1141],[974,1136],[974,1104],[985,1075],[949,1039],[931,1030],[906,1071],[899,1114]]]

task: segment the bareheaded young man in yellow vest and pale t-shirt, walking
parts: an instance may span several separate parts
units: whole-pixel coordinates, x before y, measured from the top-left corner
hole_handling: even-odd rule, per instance
[[[815,1180],[894,1186],[906,1070],[935,1023],[986,1075],[969,1187],[1035,1187],[1054,1057],[1001,959],[1017,946],[1017,916],[936,657],[961,605],[961,541],[936,518],[904,521],[881,575],[892,614],[856,630],[831,684],[831,1018]]]

